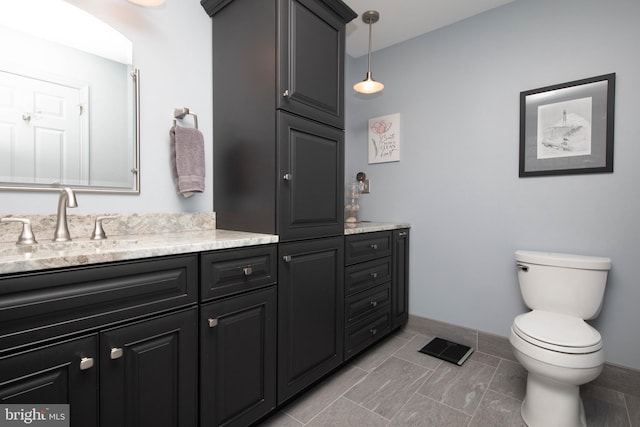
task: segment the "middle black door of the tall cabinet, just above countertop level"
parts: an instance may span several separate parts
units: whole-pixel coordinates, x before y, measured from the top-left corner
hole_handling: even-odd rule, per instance
[[[344,132],[278,113],[280,239],[344,233]]]

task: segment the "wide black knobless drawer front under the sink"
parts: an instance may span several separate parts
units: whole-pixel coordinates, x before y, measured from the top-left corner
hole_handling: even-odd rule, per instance
[[[198,258],[180,255],[0,278],[0,352],[195,304]]]

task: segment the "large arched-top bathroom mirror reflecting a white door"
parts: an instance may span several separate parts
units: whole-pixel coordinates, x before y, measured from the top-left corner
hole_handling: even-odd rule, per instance
[[[0,190],[140,192],[133,45],[62,0],[0,2]]]

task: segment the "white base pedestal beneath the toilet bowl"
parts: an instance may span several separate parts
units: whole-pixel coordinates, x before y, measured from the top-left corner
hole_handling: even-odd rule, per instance
[[[586,427],[580,387],[528,374],[522,419],[529,427]]]

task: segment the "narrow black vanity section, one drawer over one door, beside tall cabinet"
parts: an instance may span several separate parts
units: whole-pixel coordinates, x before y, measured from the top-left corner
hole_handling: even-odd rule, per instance
[[[244,427],[276,406],[276,246],[201,255],[200,425]]]

